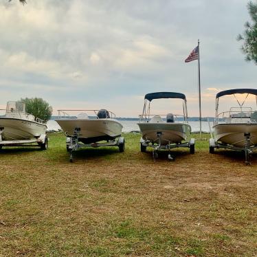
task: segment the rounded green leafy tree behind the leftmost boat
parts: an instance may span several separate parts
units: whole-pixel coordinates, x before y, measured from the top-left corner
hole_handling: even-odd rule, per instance
[[[42,98],[21,98],[21,102],[25,102],[26,113],[30,113],[45,122],[50,120],[53,109]]]

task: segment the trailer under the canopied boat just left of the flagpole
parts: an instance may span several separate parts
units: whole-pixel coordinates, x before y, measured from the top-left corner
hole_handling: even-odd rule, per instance
[[[158,152],[161,150],[167,150],[168,151],[168,160],[170,161],[174,161],[175,160],[175,156],[171,155],[170,150],[172,148],[179,148],[179,147],[187,147],[190,148],[190,153],[194,154],[194,144],[195,144],[195,139],[191,138],[190,142],[184,142],[184,143],[172,143],[170,144],[170,142],[168,142],[168,144],[161,145],[161,132],[157,132],[157,141],[158,143],[155,144],[155,142],[152,142],[150,140],[145,140],[141,137],[140,139],[140,146],[141,146],[141,152],[145,153],[146,152],[146,147],[150,147],[153,148],[153,160],[155,161],[158,158]]]

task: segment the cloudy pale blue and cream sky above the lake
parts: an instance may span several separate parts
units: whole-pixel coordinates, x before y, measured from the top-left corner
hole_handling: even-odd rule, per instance
[[[198,64],[184,60],[199,39],[202,115],[214,116],[217,92],[257,89],[257,67],[236,41],[250,21],[247,2],[0,0],[0,109],[38,97],[54,114],[104,108],[137,117],[146,93],[175,91],[197,116]],[[181,102],[165,104],[153,108],[181,112]]]

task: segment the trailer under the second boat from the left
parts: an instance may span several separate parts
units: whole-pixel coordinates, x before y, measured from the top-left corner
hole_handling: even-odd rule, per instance
[[[93,147],[97,148],[100,146],[118,146],[120,153],[124,152],[125,149],[125,139],[124,137],[118,137],[118,139],[109,140],[107,142],[95,142],[91,144],[83,144],[79,142],[80,138],[80,128],[74,129],[74,135],[68,136],[66,133],[66,149],[69,152],[69,162],[73,162],[74,159],[74,151],[80,148],[88,148]]]

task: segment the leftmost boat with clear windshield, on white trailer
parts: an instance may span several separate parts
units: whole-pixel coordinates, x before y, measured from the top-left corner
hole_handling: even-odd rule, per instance
[[[5,115],[0,116],[0,148],[37,142],[42,149],[46,149],[46,130],[43,120],[25,112],[24,102],[9,101]]]

